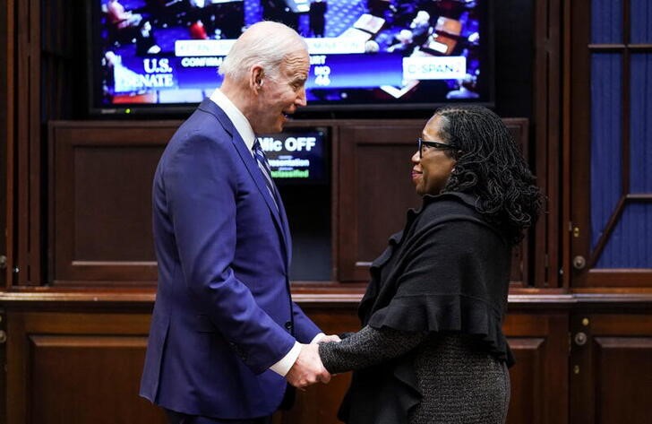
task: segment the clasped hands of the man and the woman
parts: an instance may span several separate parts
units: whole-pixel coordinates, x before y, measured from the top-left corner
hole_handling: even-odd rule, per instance
[[[305,389],[308,385],[315,383],[330,382],[330,372],[324,368],[322,359],[319,356],[319,343],[341,342],[335,334],[325,335],[317,342],[302,344],[299,356],[295,364],[287,371],[286,380],[297,389]]]

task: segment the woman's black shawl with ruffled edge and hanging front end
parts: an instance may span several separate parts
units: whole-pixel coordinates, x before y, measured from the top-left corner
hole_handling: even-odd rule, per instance
[[[476,197],[426,195],[371,266],[358,315],[363,325],[405,332],[468,333],[511,366],[502,333],[510,245],[476,211]],[[446,382],[442,382],[446,385]],[[353,374],[339,411],[347,423],[407,422],[421,401],[410,355]]]

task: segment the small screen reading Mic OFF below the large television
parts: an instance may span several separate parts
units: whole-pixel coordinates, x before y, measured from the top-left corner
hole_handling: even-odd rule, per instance
[[[278,185],[328,184],[326,134],[325,129],[303,128],[258,136]]]

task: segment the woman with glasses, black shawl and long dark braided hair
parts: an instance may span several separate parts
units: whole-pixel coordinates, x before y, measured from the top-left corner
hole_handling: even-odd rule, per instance
[[[542,195],[492,111],[439,109],[412,157],[423,196],[371,267],[362,330],[319,353],[355,370],[339,411],[358,423],[502,423],[513,364],[502,333],[512,247]]]

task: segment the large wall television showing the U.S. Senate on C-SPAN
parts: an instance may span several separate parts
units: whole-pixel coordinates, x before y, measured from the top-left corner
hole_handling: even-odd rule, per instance
[[[491,0],[92,0],[90,111],[191,110],[261,20],[305,37],[307,110],[491,105],[491,10]]]

